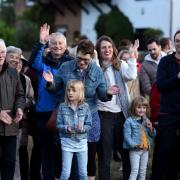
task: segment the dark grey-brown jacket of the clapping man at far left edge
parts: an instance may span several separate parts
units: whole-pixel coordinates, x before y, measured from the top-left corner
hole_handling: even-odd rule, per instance
[[[24,91],[19,74],[15,69],[4,64],[0,72],[0,110],[11,110],[10,115],[14,118],[17,108],[23,110],[24,106]],[[0,136],[15,136],[18,129],[18,123],[7,125],[0,120]]]

